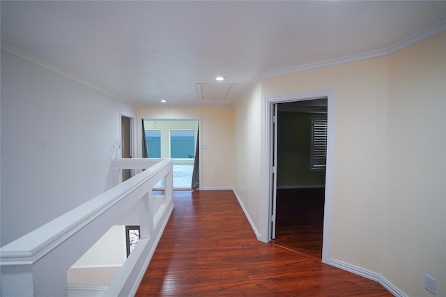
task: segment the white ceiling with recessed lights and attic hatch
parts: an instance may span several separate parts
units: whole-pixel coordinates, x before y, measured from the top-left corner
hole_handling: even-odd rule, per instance
[[[3,50],[135,107],[232,107],[262,77],[445,29],[446,1],[1,1]]]

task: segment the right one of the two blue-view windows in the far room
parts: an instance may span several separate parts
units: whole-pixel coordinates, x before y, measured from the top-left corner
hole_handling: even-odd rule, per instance
[[[195,158],[194,130],[170,130],[170,158]]]

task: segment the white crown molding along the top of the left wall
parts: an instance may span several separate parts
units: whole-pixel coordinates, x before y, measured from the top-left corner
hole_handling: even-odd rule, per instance
[[[126,100],[120,96],[117,96],[112,91],[109,91],[107,89],[102,88],[102,86],[98,86],[97,84],[93,84],[92,82],[89,82],[86,79],[82,79],[80,77],[77,77],[76,75],[72,75],[72,73],[68,73],[65,70],[62,70],[61,68],[58,68],[46,61],[43,61],[41,59],[36,58],[35,56],[32,56],[31,54],[28,54],[26,52],[23,52],[22,50],[18,50],[17,48],[7,45],[6,43],[1,43],[1,50],[3,52],[7,52],[8,54],[12,54],[13,56],[16,56],[19,59],[22,59],[24,61],[28,61],[29,63],[33,63],[36,66],[39,66],[41,68],[45,68],[46,70],[51,71],[52,73],[56,73],[57,75],[61,75],[63,77],[66,77],[74,82],[77,82],[79,84],[83,84],[84,86],[88,86],[90,89],[93,89],[95,91],[98,91],[100,93],[103,93],[109,97],[112,97],[118,101],[121,101],[125,104],[131,105],[134,107],[129,100]]]

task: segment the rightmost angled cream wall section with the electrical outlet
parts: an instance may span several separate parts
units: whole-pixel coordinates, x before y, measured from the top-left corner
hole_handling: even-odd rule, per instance
[[[381,270],[410,296],[446,296],[446,32],[390,56]]]

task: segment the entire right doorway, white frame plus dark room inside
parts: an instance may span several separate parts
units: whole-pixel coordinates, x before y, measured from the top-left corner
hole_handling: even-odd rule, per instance
[[[276,241],[277,236],[282,236],[284,241],[290,239],[290,243],[286,243],[289,247],[283,245],[285,248],[299,248],[298,252],[321,259],[324,263],[330,262],[334,100],[333,90],[266,98],[268,116],[263,196],[263,227],[266,232],[262,237],[266,236],[265,241]],[[298,113],[305,116],[300,115],[301,118],[297,119],[295,114]],[[326,143],[324,164],[321,162],[321,155],[312,151],[314,147],[307,147],[315,141],[312,121],[323,117]],[[307,123],[304,125],[302,121]],[[298,130],[306,130],[307,136],[296,135]],[[315,148],[320,147],[316,145]],[[288,223],[289,230],[286,230],[284,226]],[[277,238],[275,242],[278,245],[279,240]],[[291,243],[293,246],[290,246]],[[306,245],[310,249],[302,250]]]

